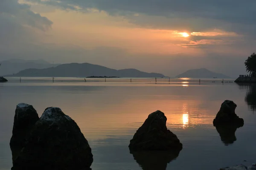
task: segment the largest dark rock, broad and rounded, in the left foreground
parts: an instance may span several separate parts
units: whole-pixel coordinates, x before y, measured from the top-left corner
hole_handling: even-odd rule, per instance
[[[90,170],[91,148],[76,122],[47,108],[35,123],[12,170]]]

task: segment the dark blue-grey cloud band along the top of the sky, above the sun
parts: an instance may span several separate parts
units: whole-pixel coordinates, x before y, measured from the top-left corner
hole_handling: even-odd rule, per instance
[[[247,0],[26,0],[34,3],[59,6],[61,8],[88,12],[94,8],[111,15],[122,15],[137,24],[155,26],[168,20],[167,25],[187,27],[195,31],[200,28],[218,27],[225,30],[250,29],[239,25],[255,26],[256,1]],[[155,17],[162,17],[155,20]],[[163,19],[165,18],[165,19]],[[143,20],[145,19],[145,20]],[[161,23],[163,24],[163,23]],[[236,26],[236,27],[234,27]],[[239,27],[239,28],[238,28]],[[201,30],[199,30],[201,31]]]

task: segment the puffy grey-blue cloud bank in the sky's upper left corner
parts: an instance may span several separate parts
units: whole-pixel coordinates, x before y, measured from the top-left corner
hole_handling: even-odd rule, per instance
[[[0,57],[29,49],[32,43],[38,42],[37,31],[44,32],[51,26],[52,21],[31,11],[29,5],[17,0],[0,0]]]

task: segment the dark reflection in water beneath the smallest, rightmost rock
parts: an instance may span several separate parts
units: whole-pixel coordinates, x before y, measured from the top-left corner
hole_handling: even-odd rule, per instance
[[[243,126],[243,125],[242,125]],[[218,125],[215,126],[217,132],[221,136],[221,141],[227,146],[233,144],[236,141],[236,129],[242,127],[235,124]]]

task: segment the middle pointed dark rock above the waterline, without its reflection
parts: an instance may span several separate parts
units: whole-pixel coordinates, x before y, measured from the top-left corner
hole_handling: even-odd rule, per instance
[[[149,114],[131,139],[130,150],[182,150],[180,140],[167,129],[166,120],[161,111]]]

